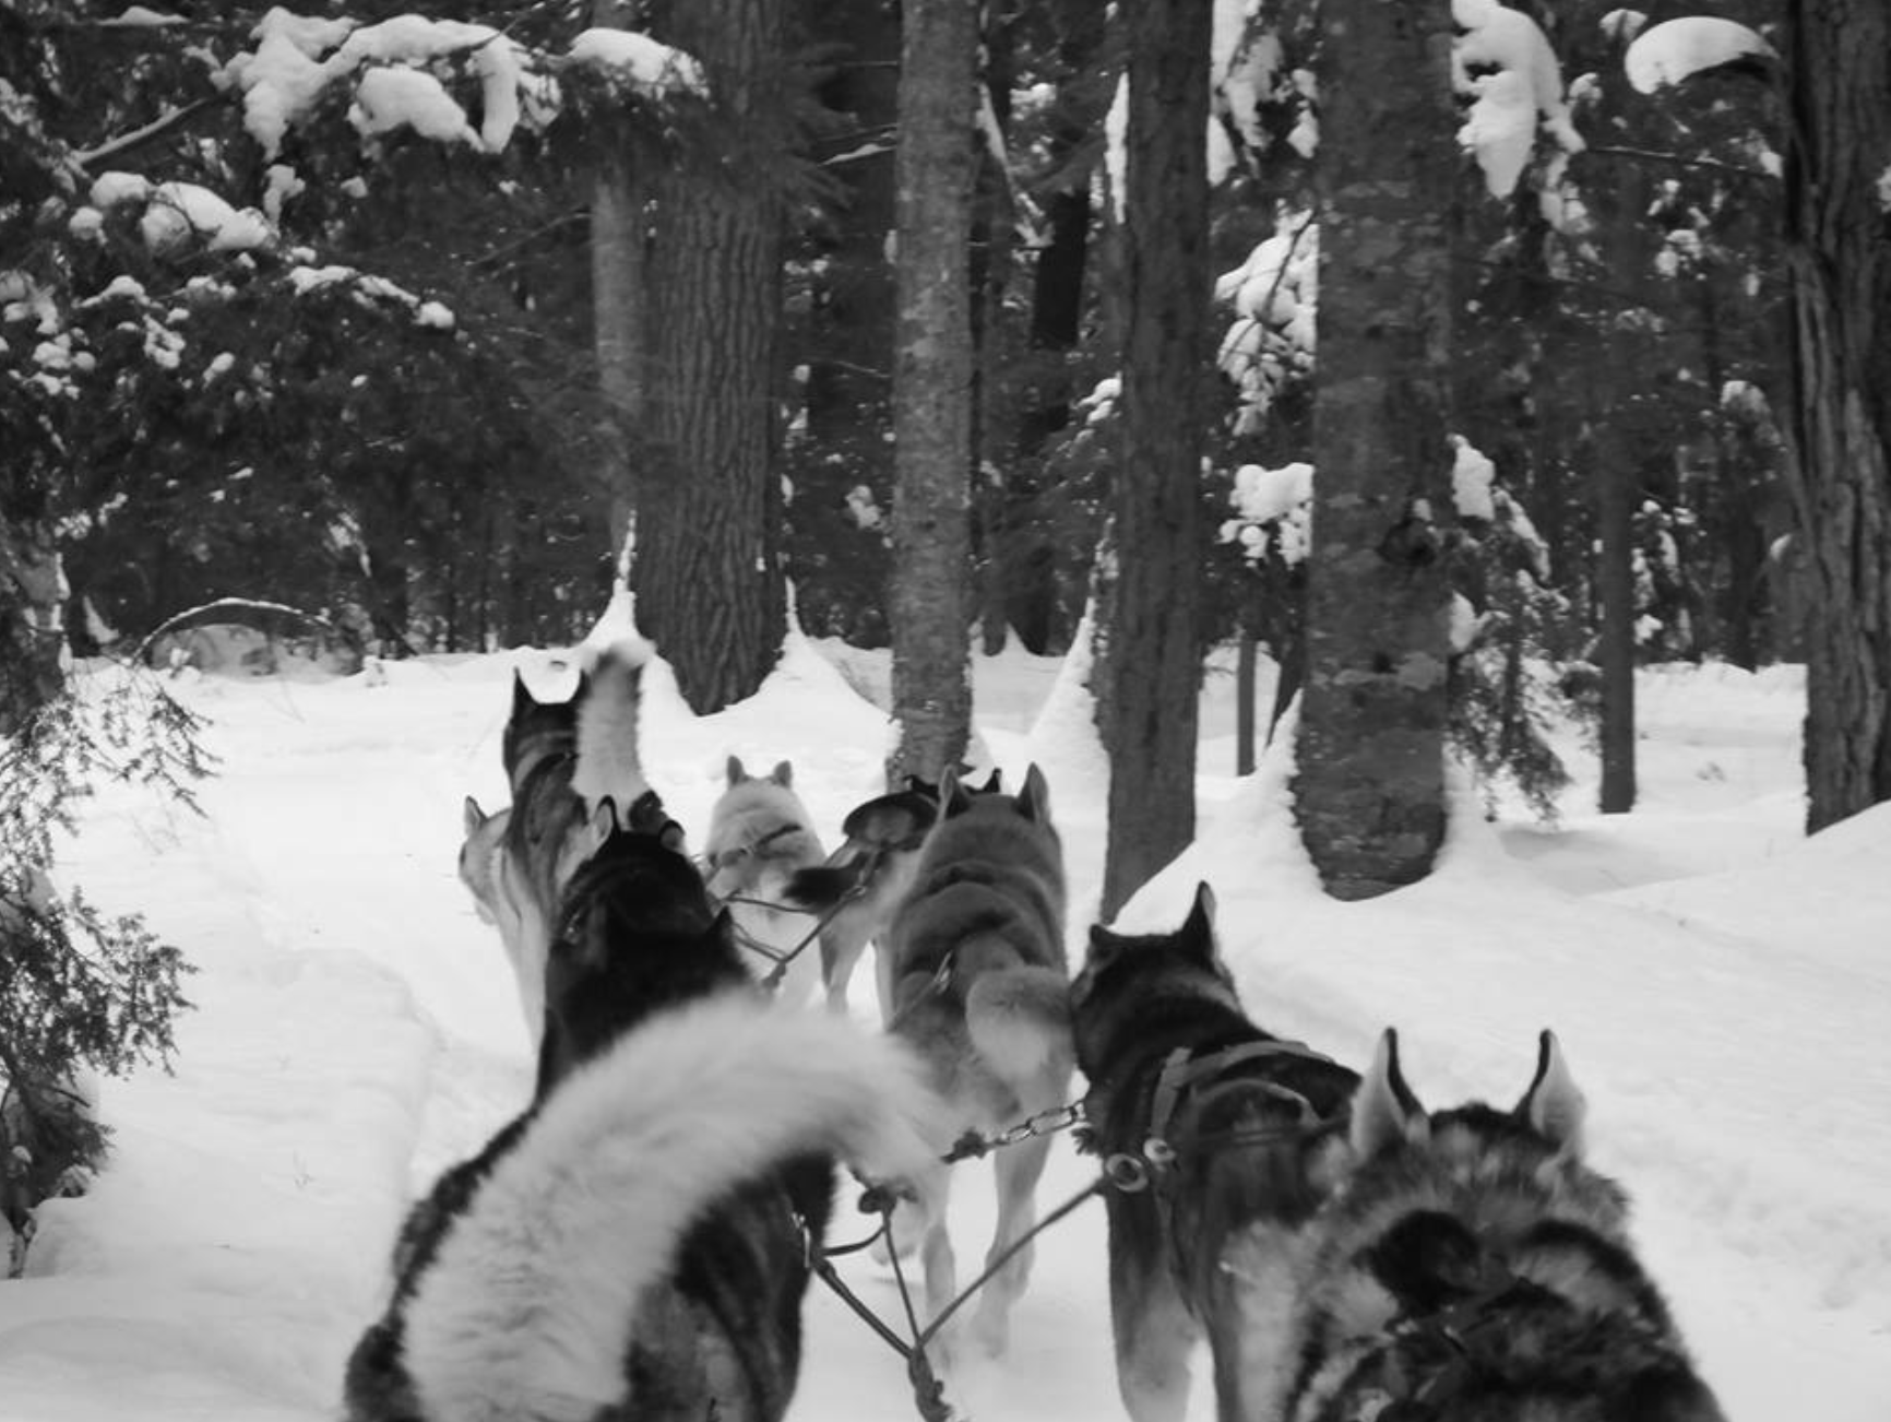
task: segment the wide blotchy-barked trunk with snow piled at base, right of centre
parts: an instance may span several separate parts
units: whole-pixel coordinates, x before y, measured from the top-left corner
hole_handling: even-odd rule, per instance
[[[1297,804],[1335,898],[1445,838],[1445,391],[1456,144],[1445,0],[1322,8],[1320,367]]]

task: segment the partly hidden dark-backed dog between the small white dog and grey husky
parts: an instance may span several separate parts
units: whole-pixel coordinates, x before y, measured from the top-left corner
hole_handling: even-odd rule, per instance
[[[997,794],[998,772],[976,794]],[[906,777],[906,789],[881,794],[855,806],[841,821],[845,836],[826,864],[802,870],[789,879],[790,902],[830,908],[821,925],[821,980],[826,983],[826,1002],[832,1012],[847,1010],[847,983],[870,942],[879,942],[893,923],[893,911],[913,885],[919,866],[919,845],[940,817],[938,785],[917,775]],[[891,1015],[887,1006],[885,955],[876,959],[881,1021]]]

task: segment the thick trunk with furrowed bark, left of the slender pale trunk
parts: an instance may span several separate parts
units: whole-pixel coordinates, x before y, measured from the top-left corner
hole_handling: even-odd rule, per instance
[[[637,622],[690,709],[753,696],[781,656],[773,340],[787,125],[783,0],[681,0],[664,38],[707,68],[719,129],[749,146],[658,183],[651,265],[654,448],[637,509]]]

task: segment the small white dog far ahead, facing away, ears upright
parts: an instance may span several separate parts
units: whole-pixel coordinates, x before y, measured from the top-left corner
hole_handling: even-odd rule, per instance
[[[792,902],[789,879],[821,858],[813,819],[794,794],[794,766],[783,760],[768,775],[751,775],[730,756],[728,789],[709,811],[705,877],[711,898],[728,904],[737,942],[768,959],[758,966],[779,983],[783,1006],[804,1006],[821,981],[821,955],[806,947],[817,921],[807,910],[781,908]]]

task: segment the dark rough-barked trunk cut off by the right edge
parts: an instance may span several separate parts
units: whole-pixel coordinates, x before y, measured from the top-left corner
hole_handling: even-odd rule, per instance
[[[1787,8],[1793,399],[1806,826],[1891,800],[1891,9]]]

